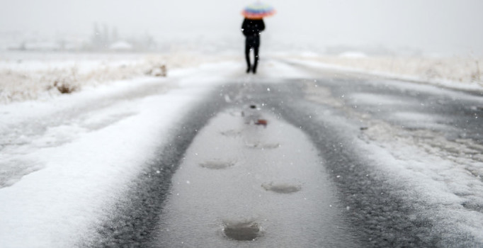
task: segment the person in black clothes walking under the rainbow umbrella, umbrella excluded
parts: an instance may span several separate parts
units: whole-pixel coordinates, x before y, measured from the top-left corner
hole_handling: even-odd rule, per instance
[[[260,33],[265,30],[265,23],[263,19],[249,19],[245,18],[242,24],[242,32],[245,35],[245,59],[246,59],[246,73],[253,72],[256,74],[256,67],[258,65],[258,50],[260,47]],[[254,64],[250,63],[250,51],[254,50]]]

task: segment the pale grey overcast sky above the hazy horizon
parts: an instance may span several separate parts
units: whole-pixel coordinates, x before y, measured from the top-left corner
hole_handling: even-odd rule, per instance
[[[121,35],[240,35],[246,0],[0,0],[0,32],[79,33],[93,23]],[[273,40],[321,45],[414,47],[483,55],[482,0],[270,0]],[[218,36],[217,36],[218,35]]]

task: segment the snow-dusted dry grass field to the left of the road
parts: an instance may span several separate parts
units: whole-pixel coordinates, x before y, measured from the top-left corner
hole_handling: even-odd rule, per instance
[[[163,77],[166,70],[217,62],[215,57],[188,52],[169,54],[0,53],[0,104],[45,100],[138,77]],[[169,72],[168,72],[169,73]]]

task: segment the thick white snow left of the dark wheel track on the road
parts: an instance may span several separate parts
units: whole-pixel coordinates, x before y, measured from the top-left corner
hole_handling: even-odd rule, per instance
[[[2,106],[1,247],[72,247],[79,234],[89,235],[106,202],[125,190],[170,127],[220,82],[224,73],[215,72],[232,67]]]

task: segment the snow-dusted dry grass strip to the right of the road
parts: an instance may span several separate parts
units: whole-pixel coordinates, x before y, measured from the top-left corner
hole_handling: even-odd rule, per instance
[[[281,58],[318,62],[327,69],[375,74],[383,77],[436,84],[453,89],[483,91],[483,58],[474,57],[369,57],[362,53],[327,55],[278,55]]]

